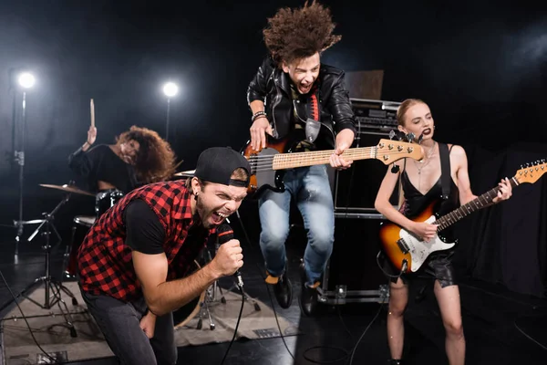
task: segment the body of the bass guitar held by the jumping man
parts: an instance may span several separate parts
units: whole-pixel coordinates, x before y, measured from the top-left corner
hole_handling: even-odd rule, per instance
[[[272,170],[266,169],[263,166],[263,162],[258,162],[264,159],[266,156],[271,156],[272,159],[279,153],[292,153],[296,151],[296,146],[304,139],[304,133],[294,131],[284,139],[276,140],[274,137],[266,134],[266,147],[261,151],[254,151],[251,146],[251,141],[247,141],[243,148],[243,156],[251,164],[251,180],[249,183],[249,189],[247,190],[247,197],[251,199],[258,199],[266,190],[271,190],[275,193],[284,192],[283,177],[285,170]],[[257,169],[262,167],[262,169]]]

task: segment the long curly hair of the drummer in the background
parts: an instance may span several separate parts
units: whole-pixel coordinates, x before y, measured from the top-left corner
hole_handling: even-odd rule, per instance
[[[116,138],[117,144],[128,141],[139,142],[135,171],[142,183],[156,183],[173,176],[178,166],[175,163],[175,153],[158,132],[132,126]]]

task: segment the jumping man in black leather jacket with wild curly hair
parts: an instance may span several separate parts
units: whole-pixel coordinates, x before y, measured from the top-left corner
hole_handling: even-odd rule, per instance
[[[332,34],[334,28],[330,11],[317,2],[299,9],[280,9],[268,19],[263,38],[270,57],[263,60],[247,92],[255,151],[266,146],[266,133],[284,139],[300,130],[300,151],[335,149],[331,166],[350,166],[341,156],[353,143],[356,130],[345,74],[321,63],[322,52],[341,38]],[[334,204],[326,166],[289,170],[284,174],[284,187],[284,193],[267,191],[259,199],[266,282],[274,286],[279,305],[288,308],[292,286],[286,275],[284,243],[294,198],[308,236],[300,304],[304,314],[310,315],[317,300],[315,288],[334,244]]]

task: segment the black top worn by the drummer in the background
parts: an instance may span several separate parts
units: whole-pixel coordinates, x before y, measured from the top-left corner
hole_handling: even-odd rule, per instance
[[[87,179],[88,189],[98,191],[98,181],[111,183],[123,193],[139,187],[133,166],[124,162],[106,144],[99,144],[88,151],[81,149],[68,157],[68,167]]]

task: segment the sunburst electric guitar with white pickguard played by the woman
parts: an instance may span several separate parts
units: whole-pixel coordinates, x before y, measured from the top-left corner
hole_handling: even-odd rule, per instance
[[[510,179],[511,187],[521,183],[535,183],[542,174],[547,172],[547,162],[542,161],[527,163],[527,167],[521,166],[521,170]],[[439,233],[455,224],[461,218],[488,206],[498,196],[500,187],[497,186],[487,193],[473,199],[469,203],[461,205],[449,214],[438,216],[434,214],[434,207],[439,200],[430,203],[422,213],[413,218],[414,222],[427,222],[438,224],[437,234],[429,242],[422,241],[418,236],[401,228],[397,224],[382,224],[380,228],[380,243],[389,261],[400,270],[401,273],[416,272],[423,265],[429,255],[436,251],[444,251],[457,244],[457,241],[447,242]]]

